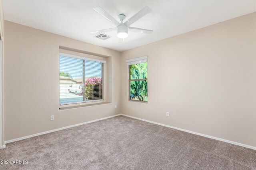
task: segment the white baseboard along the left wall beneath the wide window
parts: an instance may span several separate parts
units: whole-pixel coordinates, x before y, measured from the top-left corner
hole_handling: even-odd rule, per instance
[[[12,140],[9,140],[9,141],[4,141],[5,144],[7,143],[11,143],[11,142],[15,142],[15,141],[20,141],[20,140],[23,140],[23,139],[28,139],[30,137],[35,137],[35,136],[39,136],[39,135],[44,135],[46,133],[51,133],[51,132],[56,132],[56,131],[60,131],[62,129],[68,129],[70,127],[75,127],[75,126],[80,126],[80,125],[84,125],[84,124],[87,124],[87,123],[92,123],[92,122],[95,122],[95,121],[100,121],[100,120],[104,120],[104,119],[109,119],[111,117],[116,117],[116,116],[120,116],[121,114],[117,114],[117,115],[113,115],[113,116],[108,116],[108,117],[103,117],[103,118],[100,118],[100,119],[96,119],[96,120],[92,120],[92,121],[86,121],[84,123],[78,123],[76,125],[70,125],[70,126],[66,126],[66,127],[61,127],[61,128],[58,128],[58,129],[53,129],[53,130],[50,130],[50,131],[45,131],[45,132],[41,132],[41,133],[36,133],[34,135],[28,135],[28,136],[25,136],[25,137],[19,137],[19,138],[16,138],[16,139],[12,139]],[[4,145],[5,147],[5,145]]]

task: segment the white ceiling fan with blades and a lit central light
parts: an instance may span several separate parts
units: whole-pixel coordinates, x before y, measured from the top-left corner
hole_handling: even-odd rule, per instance
[[[122,41],[124,41],[124,39],[128,37],[128,30],[133,31],[133,32],[138,32],[138,33],[147,33],[147,34],[150,34],[153,32],[153,30],[149,30],[149,29],[130,27],[130,25],[132,25],[135,21],[139,20],[140,18],[142,18],[143,16],[145,16],[146,14],[151,12],[151,9],[148,8],[148,6],[145,6],[144,8],[142,8],[142,10],[137,12],[137,14],[135,14],[134,16],[132,16],[129,20],[127,20],[125,22],[124,22],[124,19],[126,16],[124,14],[118,15],[118,18],[120,19],[120,22],[118,22],[112,16],[110,16],[110,14],[108,14],[106,11],[104,11],[99,6],[93,8],[93,9],[96,12],[98,12],[100,15],[104,16],[107,20],[114,23],[114,25],[116,25],[116,27],[92,31],[92,32],[90,32],[91,34],[104,33],[104,32],[108,32],[108,31],[117,30],[117,37],[122,39]]]

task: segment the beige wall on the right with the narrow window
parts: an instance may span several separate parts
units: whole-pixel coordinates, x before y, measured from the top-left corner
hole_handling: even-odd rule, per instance
[[[128,102],[125,60],[145,55],[148,104]],[[123,114],[256,146],[256,13],[121,56]]]

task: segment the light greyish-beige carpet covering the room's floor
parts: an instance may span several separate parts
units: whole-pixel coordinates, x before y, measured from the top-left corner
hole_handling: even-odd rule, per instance
[[[118,116],[6,145],[0,169],[256,169],[256,152]]]

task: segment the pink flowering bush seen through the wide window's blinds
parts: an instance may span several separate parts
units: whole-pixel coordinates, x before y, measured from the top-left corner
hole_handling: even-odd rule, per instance
[[[88,78],[85,81],[85,98],[86,100],[102,99],[102,78]]]

